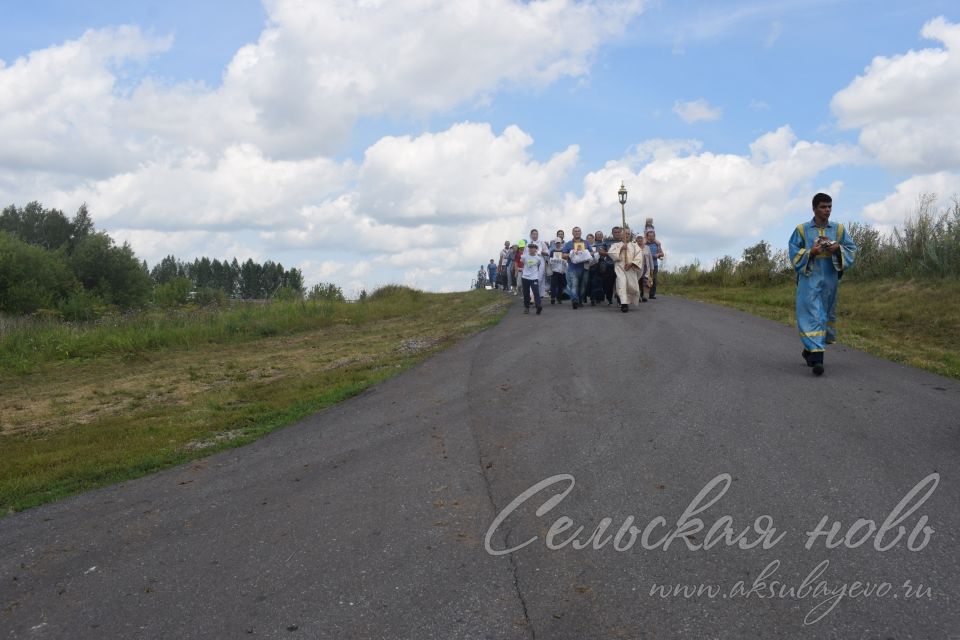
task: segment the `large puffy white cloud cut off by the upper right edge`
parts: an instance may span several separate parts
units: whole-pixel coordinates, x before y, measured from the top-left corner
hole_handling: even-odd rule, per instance
[[[944,47],[874,58],[831,106],[882,164],[936,172],[960,166],[960,24],[936,18],[922,34]]]

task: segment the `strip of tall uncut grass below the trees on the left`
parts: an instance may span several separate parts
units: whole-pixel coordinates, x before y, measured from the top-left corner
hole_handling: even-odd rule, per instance
[[[153,309],[95,322],[7,320],[0,333],[0,372],[26,373],[53,361],[98,356],[136,357],[165,348],[235,343],[335,324],[388,320],[416,312],[424,294],[390,285],[362,303],[238,302],[235,306]]]

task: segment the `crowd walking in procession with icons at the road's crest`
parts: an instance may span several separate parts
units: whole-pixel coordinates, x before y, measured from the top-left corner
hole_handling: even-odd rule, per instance
[[[523,295],[524,313],[532,307],[543,311],[549,294],[550,304],[569,299],[578,309],[587,304],[613,305],[626,313],[630,305],[657,298],[657,274],[663,260],[663,247],[657,240],[653,220],[647,219],[643,234],[630,228],[613,227],[609,236],[603,231],[583,235],[580,227],[566,239],[563,229],[549,240],[540,238],[537,229],[529,237],[503,243],[498,261],[487,265],[490,282],[514,295]]]

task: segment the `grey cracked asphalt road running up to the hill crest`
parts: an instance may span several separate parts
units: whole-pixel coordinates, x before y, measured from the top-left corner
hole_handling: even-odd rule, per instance
[[[960,638],[960,384],[800,349],[676,298],[514,304],[255,444],[3,518],[0,637]]]

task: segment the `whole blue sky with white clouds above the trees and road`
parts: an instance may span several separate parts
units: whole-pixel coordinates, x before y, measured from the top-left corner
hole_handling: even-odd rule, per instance
[[[955,0],[0,0],[0,206],[149,265],[463,290],[531,228],[664,268],[960,194]],[[954,50],[957,49],[957,50]]]

